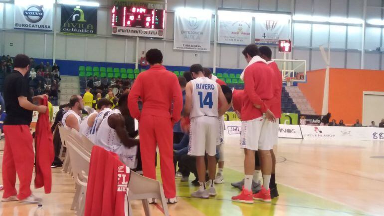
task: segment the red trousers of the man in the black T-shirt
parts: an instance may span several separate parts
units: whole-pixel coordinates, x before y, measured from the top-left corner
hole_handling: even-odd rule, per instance
[[[32,135],[27,125],[4,125],[4,156],[2,158],[3,198],[17,194],[16,173],[20,181],[17,198],[23,200],[31,195],[34,153]]]

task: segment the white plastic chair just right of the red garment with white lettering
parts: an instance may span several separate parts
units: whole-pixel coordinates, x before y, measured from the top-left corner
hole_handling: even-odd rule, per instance
[[[147,199],[156,198],[161,201],[164,215],[169,216],[167,201],[164,196],[163,187],[159,181],[141,176],[135,172],[131,172],[131,178],[128,184],[128,215],[133,216],[131,202],[133,200],[141,200],[146,216],[150,216],[150,209]]]

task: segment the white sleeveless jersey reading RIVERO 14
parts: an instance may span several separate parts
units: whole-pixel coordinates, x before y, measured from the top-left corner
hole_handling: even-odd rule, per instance
[[[218,117],[218,90],[215,81],[199,77],[192,81],[192,111],[190,118]]]

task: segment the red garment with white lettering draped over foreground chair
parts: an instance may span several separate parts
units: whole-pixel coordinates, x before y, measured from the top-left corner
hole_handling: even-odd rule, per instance
[[[125,216],[130,170],[115,153],[94,146],[89,164],[85,216]]]

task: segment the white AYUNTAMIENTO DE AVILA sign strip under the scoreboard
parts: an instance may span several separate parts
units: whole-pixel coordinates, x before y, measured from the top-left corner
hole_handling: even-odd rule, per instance
[[[135,27],[113,26],[112,27],[112,34],[125,35],[125,36],[163,38],[164,37],[164,30],[163,29],[145,29],[145,28],[135,28]]]

